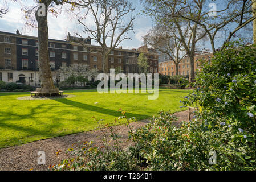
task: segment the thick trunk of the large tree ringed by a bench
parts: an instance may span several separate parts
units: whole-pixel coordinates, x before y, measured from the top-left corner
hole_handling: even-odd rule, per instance
[[[48,23],[47,23],[47,10],[49,6],[49,1],[41,1],[46,5],[46,16],[38,16],[36,11],[36,20],[38,22],[38,61],[39,61],[39,71],[41,88],[43,89],[53,89],[54,82],[52,80],[50,59],[48,53]],[[39,9],[38,9],[39,10]]]

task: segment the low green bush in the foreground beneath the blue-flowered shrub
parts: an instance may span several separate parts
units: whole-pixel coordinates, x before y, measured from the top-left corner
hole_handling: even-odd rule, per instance
[[[137,130],[138,152],[149,170],[255,170],[255,146],[231,140],[228,126],[209,129],[200,120],[173,125],[171,113],[160,112]],[[131,147],[134,149],[134,147]],[[209,164],[215,151],[217,163]]]

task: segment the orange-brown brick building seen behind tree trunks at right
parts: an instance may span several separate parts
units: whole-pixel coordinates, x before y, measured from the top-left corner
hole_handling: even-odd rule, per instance
[[[201,55],[194,56],[194,71],[200,71],[200,61],[209,61],[213,57],[213,53],[202,53]],[[188,57],[184,57],[178,64],[178,75],[183,75],[185,77],[189,76],[190,61]],[[176,75],[176,66],[172,60],[163,61],[159,63],[159,73],[162,75],[174,76]]]

